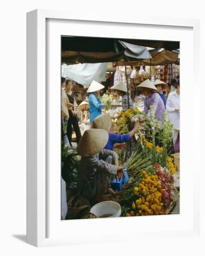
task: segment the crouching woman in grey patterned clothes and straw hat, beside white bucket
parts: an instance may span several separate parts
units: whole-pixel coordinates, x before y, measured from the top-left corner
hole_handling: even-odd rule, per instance
[[[108,201],[106,193],[115,194],[110,188],[110,175],[124,178],[123,168],[119,166],[118,155],[111,150],[103,149],[108,142],[108,132],[103,129],[86,130],[77,146],[81,155],[78,166],[78,191],[91,200]],[[99,158],[112,156],[115,165]]]

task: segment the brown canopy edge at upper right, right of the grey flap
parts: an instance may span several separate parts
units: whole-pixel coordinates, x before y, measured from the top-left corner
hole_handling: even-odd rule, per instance
[[[141,61],[128,61],[126,62],[129,66],[158,66],[176,63],[178,64],[178,56],[179,54],[173,51],[168,51],[165,49],[156,49],[150,50],[150,54],[152,55],[152,59],[141,60]],[[179,52],[179,51],[178,51]],[[117,66],[123,66],[124,61],[117,61],[115,63]]]

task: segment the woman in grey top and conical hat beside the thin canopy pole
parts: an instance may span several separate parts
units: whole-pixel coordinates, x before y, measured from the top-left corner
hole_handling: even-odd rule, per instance
[[[127,93],[127,86],[120,81],[118,84],[112,86],[110,89],[116,90],[117,94],[119,96],[122,96],[122,111],[128,110],[128,97],[129,97],[129,108],[133,108],[133,101],[130,96],[128,96]],[[120,118],[122,116],[122,113],[120,113],[115,118]]]

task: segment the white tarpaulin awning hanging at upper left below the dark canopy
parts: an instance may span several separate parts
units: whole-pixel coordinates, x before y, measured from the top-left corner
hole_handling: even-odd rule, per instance
[[[63,64],[61,66],[62,76],[68,77],[83,86],[97,82],[106,81],[106,70],[108,63],[79,63],[74,65]]]

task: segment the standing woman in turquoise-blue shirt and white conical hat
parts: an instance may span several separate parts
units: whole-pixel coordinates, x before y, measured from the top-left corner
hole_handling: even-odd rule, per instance
[[[90,122],[101,115],[102,108],[108,108],[107,104],[102,104],[100,99],[97,97],[97,92],[103,89],[104,86],[96,81],[92,81],[87,93],[89,93],[89,105],[90,105]]]

